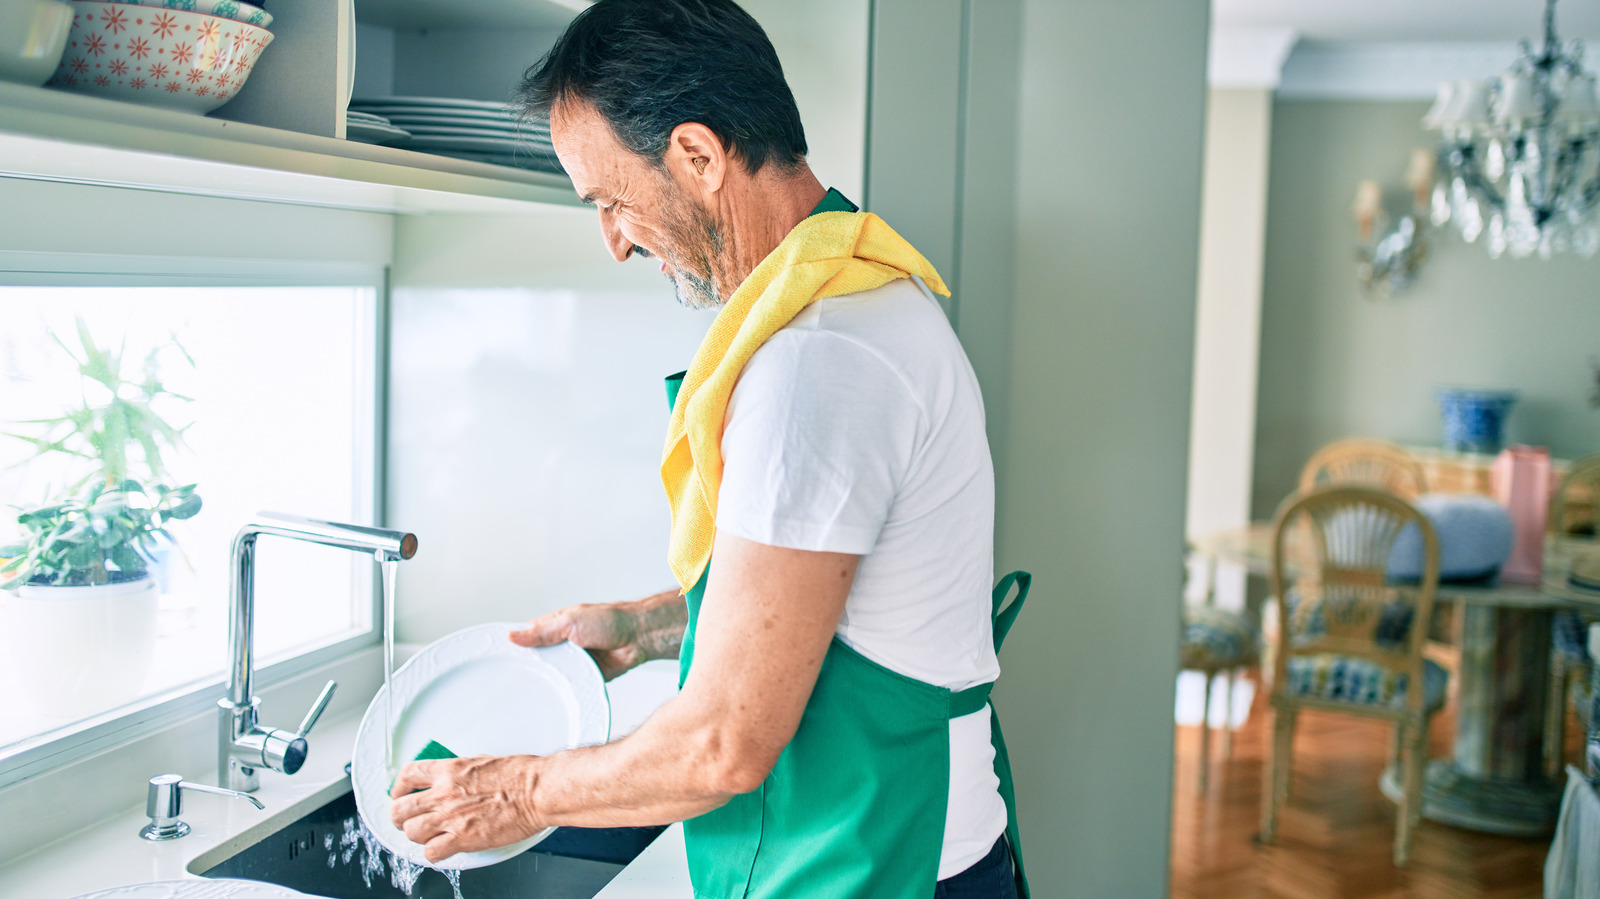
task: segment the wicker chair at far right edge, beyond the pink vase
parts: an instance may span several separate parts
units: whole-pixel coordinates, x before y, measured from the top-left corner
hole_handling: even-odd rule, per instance
[[[1600,536],[1600,454],[1578,459],[1566,470],[1562,486],[1550,497],[1550,533],[1557,537]],[[1573,702],[1578,720],[1589,723],[1592,702],[1584,693],[1592,667],[1586,643],[1590,621],[1592,616],[1586,621],[1576,611],[1560,611],[1552,622],[1550,696],[1544,720],[1544,769],[1552,777],[1560,776],[1565,761],[1566,704],[1573,686],[1578,686],[1573,696],[1578,699]]]

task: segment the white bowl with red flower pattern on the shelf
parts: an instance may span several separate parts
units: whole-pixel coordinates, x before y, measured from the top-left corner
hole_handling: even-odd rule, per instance
[[[186,10],[75,0],[51,85],[205,115],[234,99],[272,32]]]

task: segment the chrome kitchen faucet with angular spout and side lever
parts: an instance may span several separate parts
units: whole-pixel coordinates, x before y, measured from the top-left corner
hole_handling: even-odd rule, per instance
[[[218,784],[246,793],[261,787],[259,768],[293,774],[306,763],[306,734],[339,686],[328,681],[294,731],[264,728],[251,693],[256,669],[256,537],[267,534],[322,545],[370,552],[378,561],[398,561],[416,555],[416,536],[405,531],[339,525],[280,512],[259,512],[256,521],[234,536],[234,577],[229,587],[227,617],[227,696],[218,701],[221,729],[218,741]]]

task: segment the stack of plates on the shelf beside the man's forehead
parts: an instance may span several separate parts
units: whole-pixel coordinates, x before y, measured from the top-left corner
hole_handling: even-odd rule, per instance
[[[502,102],[440,98],[352,99],[350,110],[376,115],[410,134],[394,146],[424,154],[560,173],[547,122],[518,122]]]

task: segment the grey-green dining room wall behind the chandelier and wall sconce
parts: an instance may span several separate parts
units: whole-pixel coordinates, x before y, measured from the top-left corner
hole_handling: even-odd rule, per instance
[[[1434,136],[1427,104],[1278,101],[1272,112],[1253,512],[1262,518],[1317,446],[1341,437],[1438,445],[1434,389],[1522,392],[1507,437],[1557,457],[1600,451],[1587,406],[1600,360],[1600,258],[1490,259],[1434,234],[1410,293],[1366,299],[1355,282],[1355,184],[1406,203],[1405,166]]]

